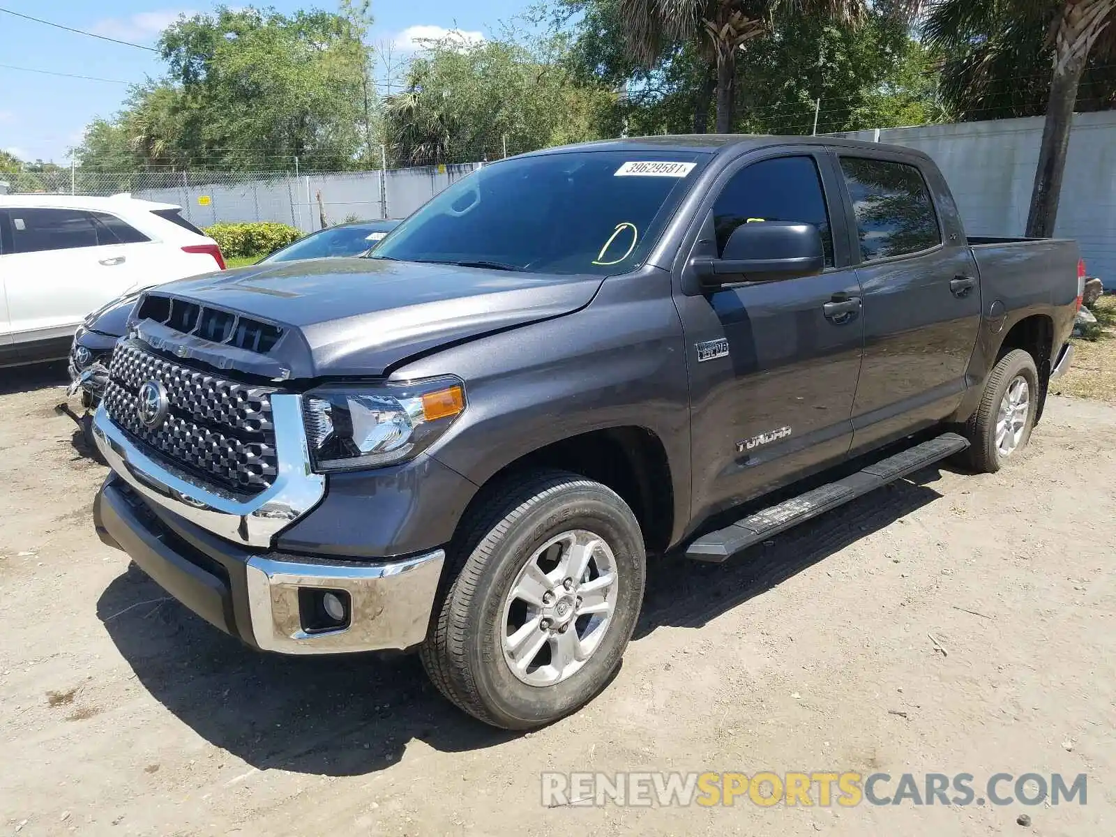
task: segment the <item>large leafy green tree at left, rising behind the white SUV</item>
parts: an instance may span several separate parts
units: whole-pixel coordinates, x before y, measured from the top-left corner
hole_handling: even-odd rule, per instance
[[[219,7],[180,18],[160,40],[166,77],[90,123],[78,157],[90,170],[367,162],[369,20],[363,0],[339,15]]]

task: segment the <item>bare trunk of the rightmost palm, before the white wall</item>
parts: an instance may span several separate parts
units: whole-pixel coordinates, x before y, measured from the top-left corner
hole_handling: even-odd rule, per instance
[[[1061,198],[1061,177],[1066,171],[1066,153],[1069,151],[1069,129],[1074,123],[1074,104],[1077,102],[1077,85],[1084,69],[1084,60],[1074,61],[1061,73],[1055,70],[1050,81],[1039,165],[1035,171],[1031,209],[1027,217],[1026,234],[1031,238],[1054,235],[1058,220],[1058,200]]]

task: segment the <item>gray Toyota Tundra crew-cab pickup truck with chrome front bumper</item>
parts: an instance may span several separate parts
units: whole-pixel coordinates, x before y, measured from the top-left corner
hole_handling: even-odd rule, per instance
[[[537,727],[616,671],[648,556],[1016,458],[1083,275],[1071,241],[968,239],[911,150],[513,157],[368,258],[147,292],[95,417],[97,532],[251,646],[416,648],[461,709]]]

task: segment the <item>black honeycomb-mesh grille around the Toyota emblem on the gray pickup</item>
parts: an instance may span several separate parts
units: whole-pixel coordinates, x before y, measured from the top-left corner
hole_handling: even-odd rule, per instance
[[[262,491],[275,480],[273,388],[220,378],[127,341],[113,353],[108,378],[108,416],[173,464],[238,491]],[[170,404],[154,429],[138,413],[138,391],[148,381],[163,385]]]

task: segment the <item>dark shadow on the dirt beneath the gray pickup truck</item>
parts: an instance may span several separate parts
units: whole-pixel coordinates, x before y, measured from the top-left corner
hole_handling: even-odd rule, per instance
[[[700,627],[858,538],[941,497],[926,469],[791,530],[727,564],[656,559],[636,628]],[[260,770],[357,776],[397,762],[414,740],[441,751],[481,750],[518,733],[451,706],[415,656],[261,654],[167,599],[135,565],[97,603],[138,681],[198,734]]]

